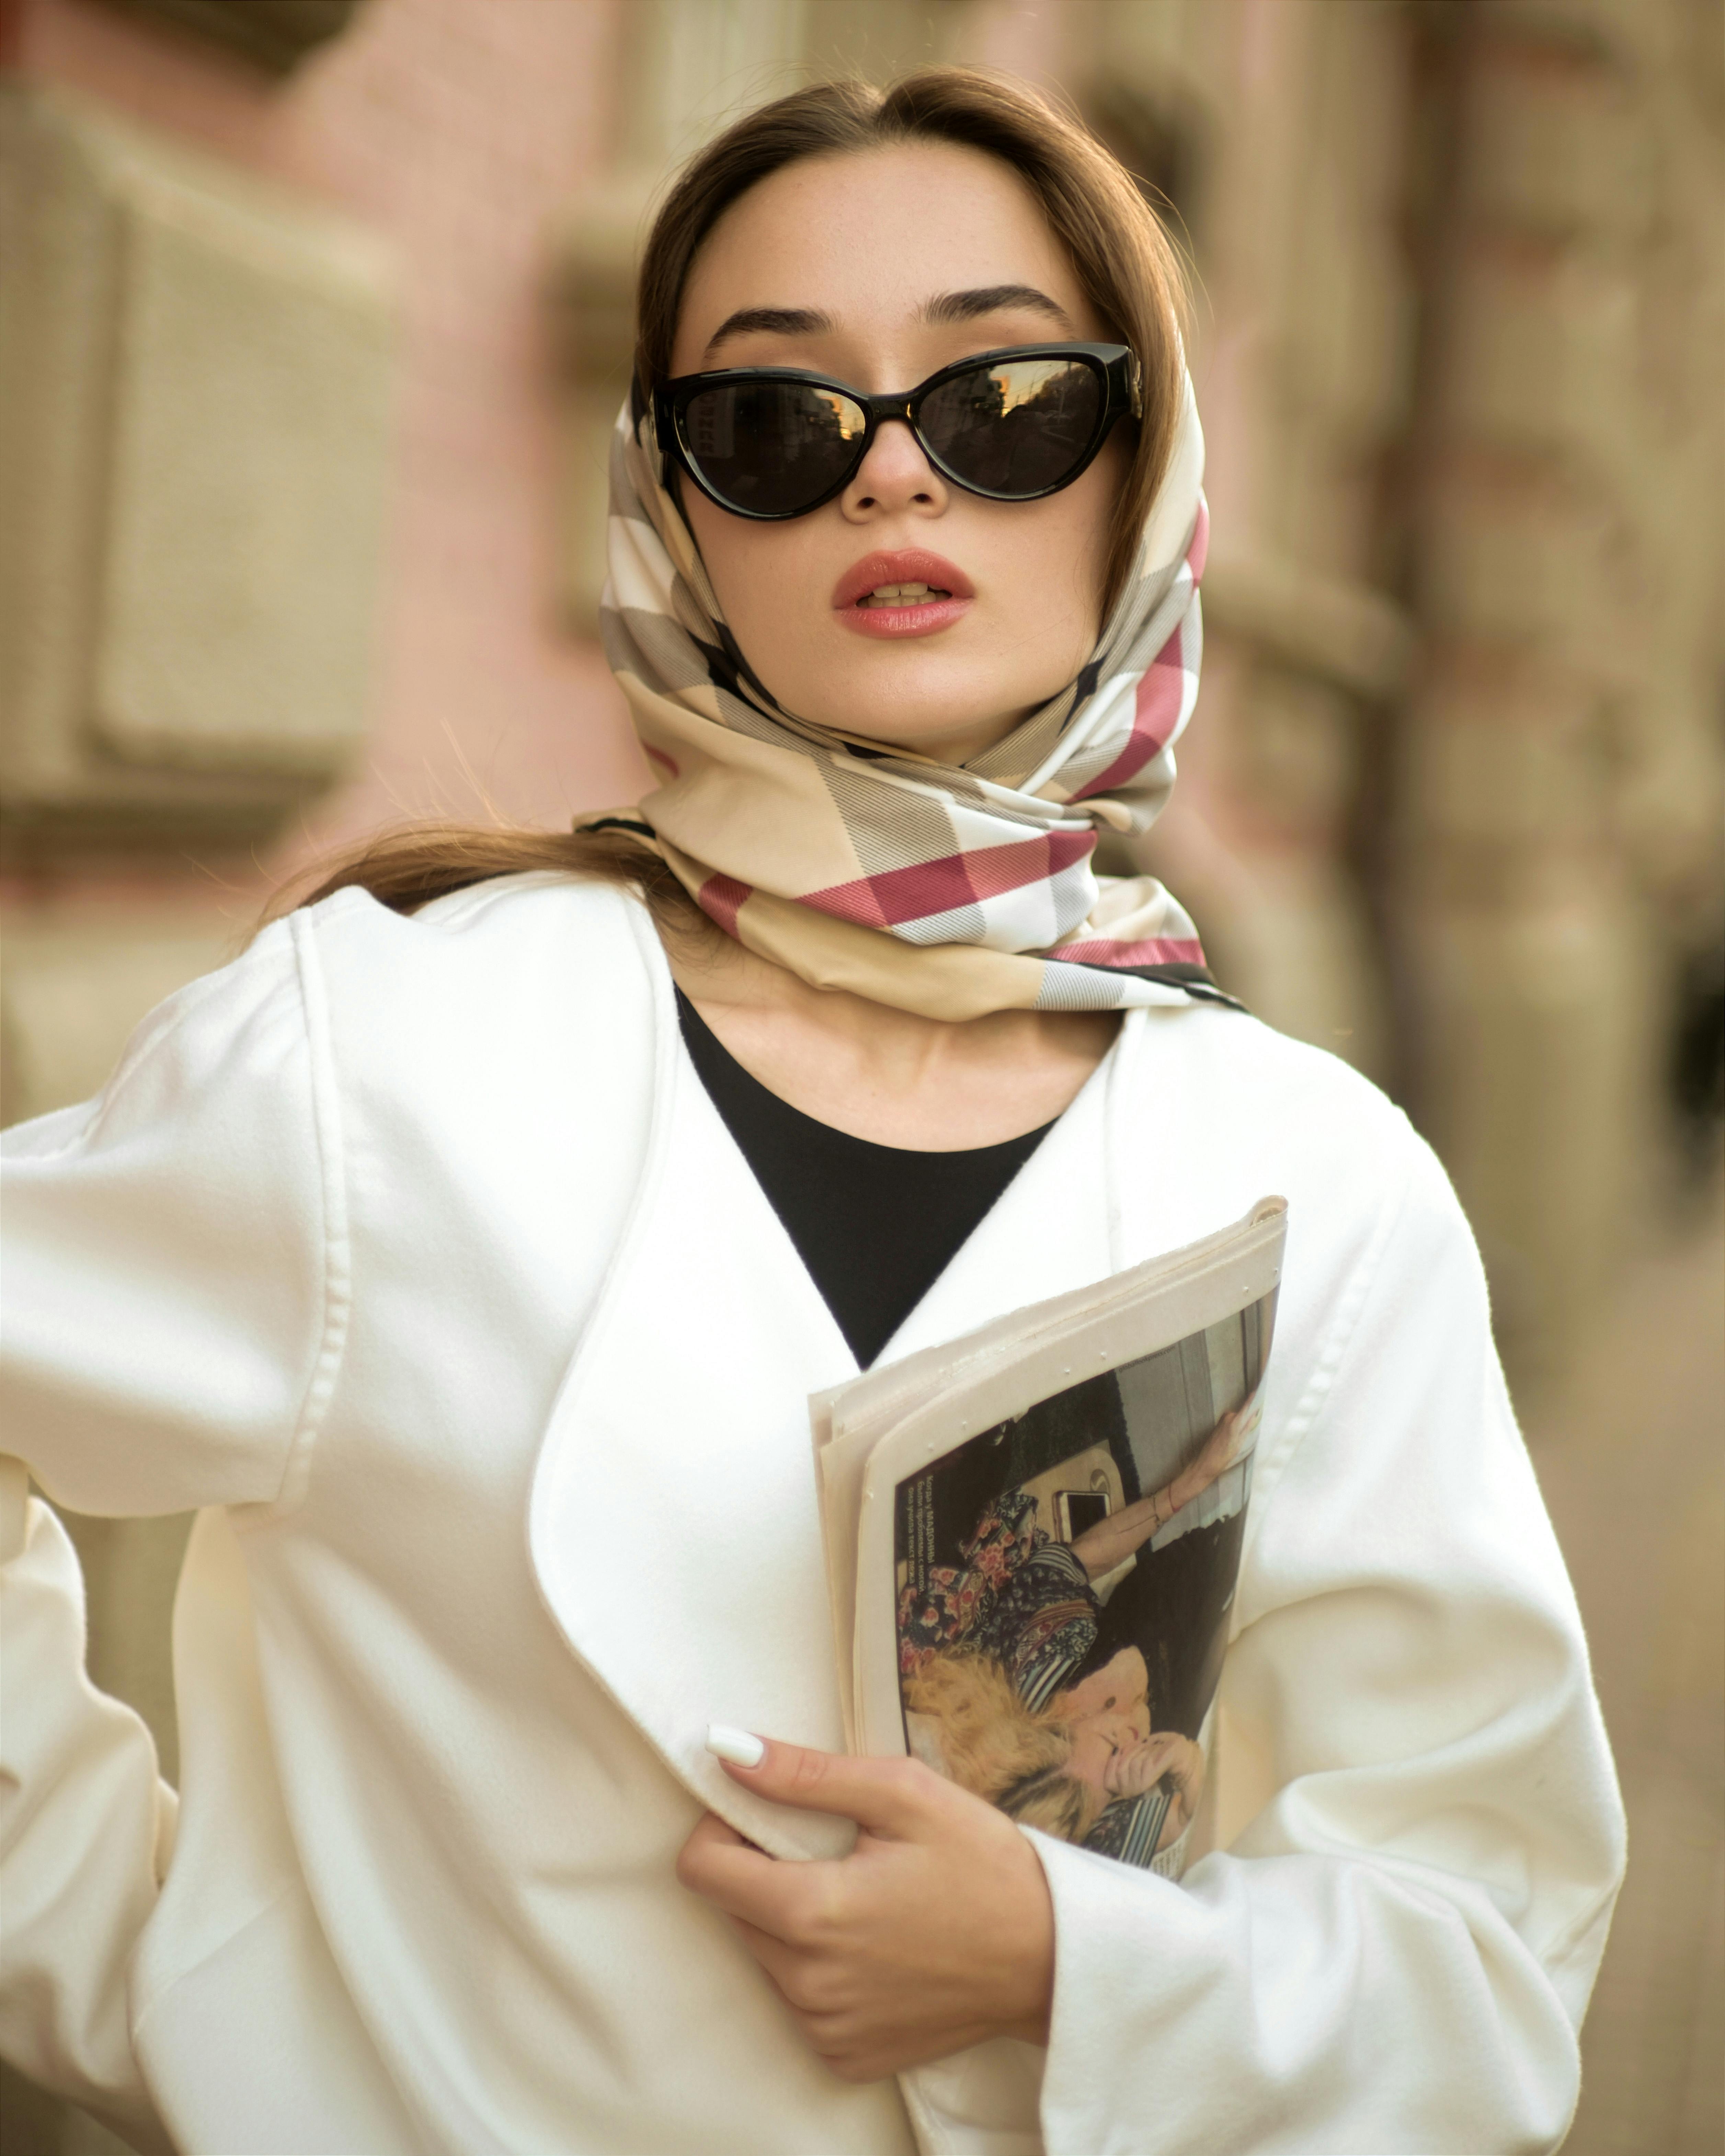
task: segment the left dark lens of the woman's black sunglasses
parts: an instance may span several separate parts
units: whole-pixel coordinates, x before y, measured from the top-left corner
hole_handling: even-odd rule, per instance
[[[684,442],[720,500],[787,517],[845,476],[867,418],[850,397],[811,382],[727,382],[690,399]]]

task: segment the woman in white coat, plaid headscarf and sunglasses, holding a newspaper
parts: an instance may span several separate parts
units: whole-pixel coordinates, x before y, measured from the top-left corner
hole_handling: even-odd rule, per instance
[[[382,837],[6,1138],[0,2048],[220,2156],[1552,2150],[1622,1815],[1473,1238],[1126,873],[1208,539],[1160,226],[1005,80],[815,86],[638,332],[651,787]],[[1264,1192],[1184,1878],[847,1759],[811,1393]],[[179,1794],[26,1468],[198,1511]]]

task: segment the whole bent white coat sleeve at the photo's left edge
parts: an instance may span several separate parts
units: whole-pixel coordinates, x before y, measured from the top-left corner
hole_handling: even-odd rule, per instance
[[[304,1455],[345,1253],[300,942],[270,929],[147,1020],[97,1102],[0,1143],[0,2055],[140,2147],[164,2143],[125,1990],[175,1796],[84,1673],[78,1561],[26,1466],[136,1516],[270,1503]]]

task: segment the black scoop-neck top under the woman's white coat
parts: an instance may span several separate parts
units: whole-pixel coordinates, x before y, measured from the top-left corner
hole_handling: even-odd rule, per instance
[[[701,1082],[867,1369],[1054,1125],[962,1153],[852,1138],[750,1078],[681,990],[677,1015]]]

